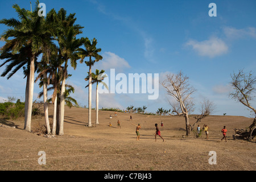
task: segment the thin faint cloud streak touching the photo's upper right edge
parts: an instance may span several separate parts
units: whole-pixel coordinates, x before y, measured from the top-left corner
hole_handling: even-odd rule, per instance
[[[233,27],[224,27],[223,31],[226,37],[229,39],[238,39],[238,38],[245,38],[245,37],[256,38],[256,28],[254,27],[247,27],[242,29],[237,29]]]

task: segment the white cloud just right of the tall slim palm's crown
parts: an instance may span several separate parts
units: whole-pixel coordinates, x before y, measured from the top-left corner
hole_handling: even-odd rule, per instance
[[[102,56],[102,61],[97,65],[99,69],[104,69],[106,71],[107,69],[115,68],[116,71],[122,71],[125,68],[131,68],[125,59],[115,55],[115,53],[104,52]]]

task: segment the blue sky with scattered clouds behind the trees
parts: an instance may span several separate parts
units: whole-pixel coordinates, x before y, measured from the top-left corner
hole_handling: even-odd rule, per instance
[[[32,7],[34,7],[34,2]],[[95,69],[115,68],[115,74],[159,73],[159,81],[166,73],[180,70],[189,77],[197,92],[193,95],[196,110],[208,98],[216,105],[213,114],[243,115],[250,111],[228,97],[230,74],[256,68],[256,1],[196,0],[196,1],[40,1],[46,11],[61,7],[76,13],[77,24],[84,26],[81,36],[96,38],[104,59]],[[217,16],[210,17],[209,3],[216,3]],[[30,1],[1,1],[0,19],[17,18],[11,7],[17,3],[30,10]],[[0,32],[6,27],[0,25]],[[0,42],[3,46],[4,42]],[[0,68],[0,73],[5,68]],[[84,81],[88,67],[77,64],[68,84],[75,87],[72,95],[80,105],[88,105],[88,90]],[[256,74],[254,72],[254,74]],[[118,81],[116,81],[117,83]],[[0,78],[0,99],[15,96],[24,100],[26,80],[23,71],[7,80]],[[34,92],[42,89],[35,84]],[[95,86],[93,86],[95,90]],[[50,94],[49,94],[50,95]],[[159,107],[170,109],[166,91],[159,84],[158,100],[148,100],[148,94],[100,94],[100,107],[135,107],[146,105],[147,111]],[[93,92],[93,107],[94,107]],[[252,102],[256,107],[256,102]]]

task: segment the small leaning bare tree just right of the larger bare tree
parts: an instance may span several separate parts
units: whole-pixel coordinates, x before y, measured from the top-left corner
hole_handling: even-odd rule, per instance
[[[200,109],[201,114],[194,117],[196,119],[196,122],[191,126],[191,130],[194,129],[196,123],[201,122],[202,119],[212,114],[214,109],[215,109],[214,103],[212,101],[204,99],[204,101],[201,102],[201,109]]]

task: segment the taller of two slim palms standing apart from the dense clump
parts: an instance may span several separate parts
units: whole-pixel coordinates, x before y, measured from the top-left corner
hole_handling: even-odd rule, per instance
[[[92,66],[95,62],[102,60],[102,56],[98,55],[101,52],[101,48],[96,48],[97,40],[94,38],[92,43],[89,39],[86,39],[84,43],[85,49],[79,48],[78,53],[81,58],[80,63],[84,61],[85,57],[89,57],[89,61],[85,61],[85,64],[89,67],[89,86],[88,86],[88,127],[92,126]],[[92,60],[92,57],[95,60]]]

